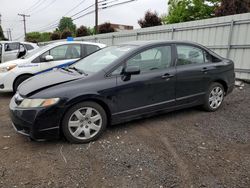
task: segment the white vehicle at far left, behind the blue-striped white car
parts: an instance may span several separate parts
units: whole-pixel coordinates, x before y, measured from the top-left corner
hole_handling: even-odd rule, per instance
[[[39,48],[31,42],[0,41],[0,63],[18,59]]]

